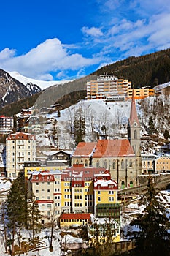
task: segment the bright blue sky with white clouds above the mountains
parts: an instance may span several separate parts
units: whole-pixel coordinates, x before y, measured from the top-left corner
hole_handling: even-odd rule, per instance
[[[169,0],[8,0],[0,22],[0,68],[39,80],[170,47]]]

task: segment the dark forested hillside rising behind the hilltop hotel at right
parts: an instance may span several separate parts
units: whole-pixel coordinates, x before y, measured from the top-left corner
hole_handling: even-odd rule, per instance
[[[94,72],[94,75],[104,73],[117,75],[118,78],[127,78],[134,88],[142,86],[157,86],[170,80],[170,49],[140,57],[129,57],[117,61]]]

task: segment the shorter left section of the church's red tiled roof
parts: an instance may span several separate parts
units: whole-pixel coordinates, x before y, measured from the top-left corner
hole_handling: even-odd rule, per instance
[[[93,153],[95,146],[96,142],[80,142],[74,151],[73,157],[89,157]]]

